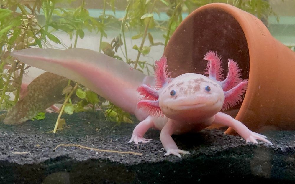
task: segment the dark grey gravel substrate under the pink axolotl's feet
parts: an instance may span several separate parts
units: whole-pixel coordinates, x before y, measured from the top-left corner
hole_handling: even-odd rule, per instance
[[[160,132],[149,130],[147,144],[127,144],[136,124],[116,125],[98,113],[64,115],[67,125],[53,129],[56,114],[22,125],[0,124],[0,183],[295,183],[295,131],[268,131],[273,145],[245,143],[220,130],[173,136],[190,155],[164,156]],[[58,144],[133,151],[97,152]],[[15,154],[16,152],[27,152]]]

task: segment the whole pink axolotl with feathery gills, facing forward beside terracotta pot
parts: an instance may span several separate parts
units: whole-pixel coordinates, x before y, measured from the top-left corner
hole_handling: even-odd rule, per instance
[[[240,79],[239,69],[233,60],[229,60],[226,79],[220,81],[220,57],[214,52],[205,56],[208,60],[205,73],[209,77],[188,73],[174,79],[168,78],[164,57],[156,63],[155,78],[132,69],[122,61],[88,49],[24,49],[11,55],[31,66],[79,82],[123,110],[135,114],[141,122],[133,130],[129,142],[148,142],[150,139],[143,136],[149,128],[161,130],[160,140],[167,151],[165,155],[188,153],[178,149],[172,134],[199,131],[212,123],[232,127],[247,142],[257,143],[256,139],[260,139],[271,144],[266,136],[252,132],[241,122],[219,112],[241,100],[247,81]]]

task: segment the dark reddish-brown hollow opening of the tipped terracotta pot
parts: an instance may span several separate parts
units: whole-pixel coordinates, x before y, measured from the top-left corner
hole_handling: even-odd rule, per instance
[[[204,74],[207,61],[203,58],[210,50],[222,56],[224,77],[228,72],[227,59],[231,58],[239,64],[242,78],[248,79],[249,50],[242,27],[234,17],[217,8],[193,12],[176,29],[164,51],[171,76],[189,72]],[[241,104],[228,113],[235,117]]]

